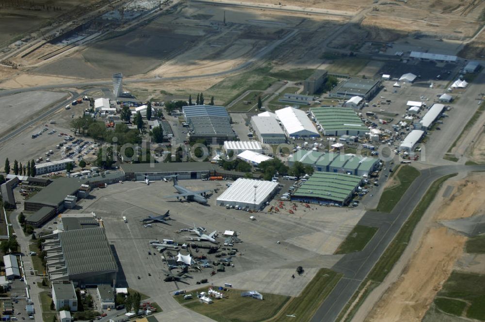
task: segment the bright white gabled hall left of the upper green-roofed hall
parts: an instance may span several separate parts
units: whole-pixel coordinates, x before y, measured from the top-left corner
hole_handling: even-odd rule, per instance
[[[293,107],[275,111],[276,117],[281,122],[285,134],[292,138],[320,137],[307,114]]]

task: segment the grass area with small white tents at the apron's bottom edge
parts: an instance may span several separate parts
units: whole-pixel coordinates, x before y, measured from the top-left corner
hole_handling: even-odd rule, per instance
[[[207,291],[208,288],[204,288]],[[200,303],[198,299],[184,304],[187,308],[220,322],[256,322],[274,316],[290,299],[289,296],[263,294],[263,301],[242,297],[240,290],[231,289],[225,294],[228,298],[214,300],[210,305]]]

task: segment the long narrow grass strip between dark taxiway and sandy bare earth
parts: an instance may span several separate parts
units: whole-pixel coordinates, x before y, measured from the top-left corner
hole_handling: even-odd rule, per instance
[[[401,227],[394,240],[389,244],[384,254],[382,254],[379,261],[372,268],[372,271],[368,275],[370,279],[378,282],[384,280],[394,264],[403,254],[404,249],[413,234],[414,227],[416,227],[426,209],[428,209],[431,202],[435,199],[436,193],[441,188],[443,182],[454,176],[456,176],[456,174],[441,177],[431,184],[428,191],[426,191],[419,204]]]

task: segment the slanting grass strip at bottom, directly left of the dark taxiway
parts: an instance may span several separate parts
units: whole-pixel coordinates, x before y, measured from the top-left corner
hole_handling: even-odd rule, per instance
[[[311,282],[308,283],[307,287],[301,292],[301,295],[292,298],[288,302],[288,305],[269,321],[310,321],[320,304],[322,304],[328,294],[334,289],[341,277],[342,274],[326,268],[320,269]],[[293,314],[296,316],[296,319],[287,316]]]

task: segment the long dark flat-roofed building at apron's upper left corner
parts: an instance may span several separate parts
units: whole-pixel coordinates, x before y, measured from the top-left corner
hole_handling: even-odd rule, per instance
[[[25,200],[24,209],[27,211],[37,211],[42,207],[55,208],[59,213],[64,210],[64,199],[68,195],[77,196],[82,184],[87,184],[88,180],[69,177],[55,179],[51,184],[34,194],[30,199]]]

